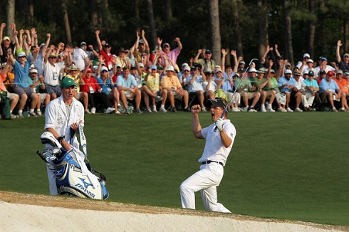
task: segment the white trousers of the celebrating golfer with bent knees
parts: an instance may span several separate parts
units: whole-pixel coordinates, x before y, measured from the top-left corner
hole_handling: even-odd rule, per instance
[[[202,164],[200,170],[183,181],[180,189],[182,207],[195,209],[195,192],[201,192],[202,201],[207,211],[231,213],[217,202],[217,186],[222,180],[224,169],[221,164]]]

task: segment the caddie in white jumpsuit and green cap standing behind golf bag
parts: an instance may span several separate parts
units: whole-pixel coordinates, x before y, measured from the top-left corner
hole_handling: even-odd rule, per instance
[[[84,107],[74,98],[75,83],[71,78],[63,79],[61,83],[62,95],[48,103],[45,110],[45,130],[51,132],[68,151],[71,147],[79,148],[78,139],[74,137],[70,144],[71,128],[78,133],[78,125],[84,123]],[[46,144],[46,147],[51,145]],[[50,194],[58,195],[55,174],[47,167]]]

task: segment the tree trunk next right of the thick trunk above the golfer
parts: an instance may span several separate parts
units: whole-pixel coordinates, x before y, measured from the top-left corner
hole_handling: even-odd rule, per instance
[[[269,45],[269,33],[268,33],[268,0],[258,0],[258,40],[259,40],[259,60],[266,52],[266,47]]]

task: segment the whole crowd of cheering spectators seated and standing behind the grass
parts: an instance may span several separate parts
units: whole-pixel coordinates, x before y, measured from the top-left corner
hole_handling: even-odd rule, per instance
[[[3,35],[5,27],[1,23],[0,90],[7,93],[12,118],[42,116],[48,102],[61,95],[63,78],[74,80],[75,98],[83,103],[85,114],[191,111],[194,103],[206,112],[207,99],[214,97],[231,100],[231,112],[349,110],[349,54],[340,56],[341,41],[330,63],[304,53],[292,67],[275,45],[267,47],[259,63],[249,65],[236,51],[225,49],[219,65],[204,48],[187,63],[177,64],[180,38],[174,40],[176,48],[158,38],[150,49],[141,31],[131,48],[115,49],[97,30],[96,46],[84,41],[55,46],[50,33],[39,43],[35,28],[17,31],[11,24],[9,38]],[[226,60],[228,53],[231,60]]]

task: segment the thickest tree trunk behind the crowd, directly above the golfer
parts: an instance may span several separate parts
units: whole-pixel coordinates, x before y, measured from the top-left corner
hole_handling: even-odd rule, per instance
[[[219,31],[218,0],[209,1],[209,16],[211,22],[212,56],[217,64],[221,63],[221,33]]]

